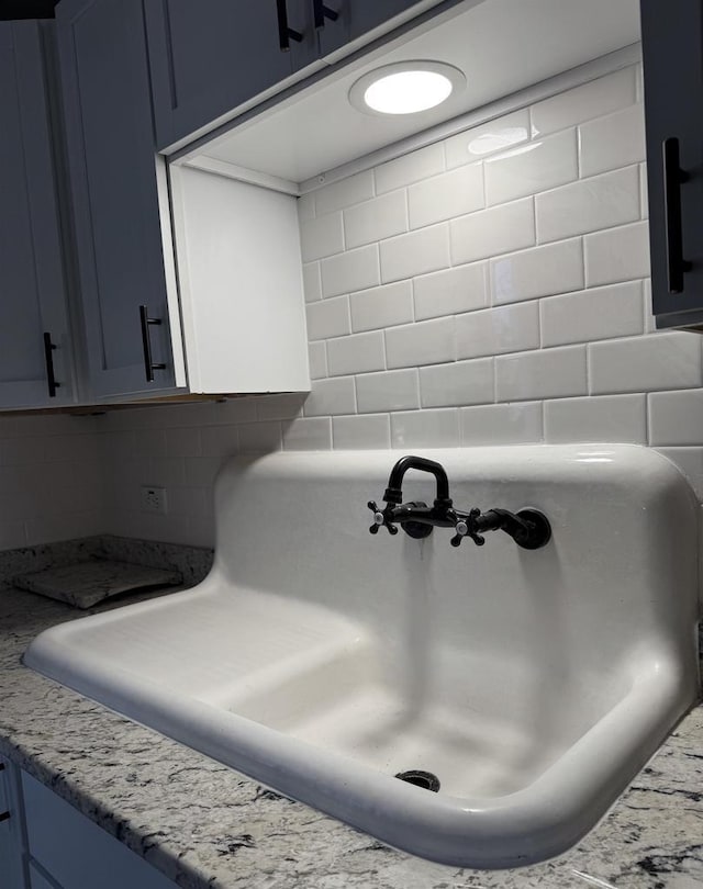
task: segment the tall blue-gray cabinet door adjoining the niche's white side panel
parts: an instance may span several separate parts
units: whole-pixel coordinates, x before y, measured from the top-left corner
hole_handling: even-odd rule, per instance
[[[62,0],[57,30],[91,395],[172,391],[142,2]]]

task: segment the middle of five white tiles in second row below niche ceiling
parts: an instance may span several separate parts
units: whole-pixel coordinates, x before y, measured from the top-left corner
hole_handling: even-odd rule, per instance
[[[483,165],[459,167],[408,189],[410,227],[422,228],[472,213],[483,203]]]

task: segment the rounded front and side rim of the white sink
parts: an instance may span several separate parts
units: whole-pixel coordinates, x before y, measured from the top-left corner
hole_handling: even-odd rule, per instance
[[[181,597],[207,595],[202,586],[175,594],[170,601],[165,598],[131,608],[148,609]],[[65,637],[79,631],[85,621],[114,614],[82,618],[46,631],[25,652],[24,665],[52,679],[46,664],[58,654],[64,664],[62,684],[97,704],[392,846],[458,867],[518,867],[565,852],[604,814],[636,774],[633,764],[637,763],[639,770],[695,699],[680,659],[662,640],[654,662],[651,649],[629,659],[629,690],[527,787],[499,797],[428,794],[349,756],[194,697],[188,698],[185,717],[172,691],[143,677],[135,684],[129,669],[93,665],[86,679],[80,676],[80,654]],[[687,687],[691,702],[682,706]],[[144,708],[148,708],[148,723],[142,717]],[[185,720],[189,742],[181,740]],[[646,749],[641,738],[648,741]],[[629,767],[618,768],[615,763]],[[606,807],[604,798],[609,800]],[[536,837],[542,837],[540,842]]]

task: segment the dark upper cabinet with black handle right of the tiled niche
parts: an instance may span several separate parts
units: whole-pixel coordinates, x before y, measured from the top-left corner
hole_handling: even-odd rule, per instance
[[[652,311],[703,330],[703,4],[640,8]]]

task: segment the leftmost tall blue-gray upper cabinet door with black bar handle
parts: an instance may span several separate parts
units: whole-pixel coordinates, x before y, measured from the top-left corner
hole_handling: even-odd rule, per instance
[[[74,390],[41,27],[0,22],[2,408],[65,404]]]

